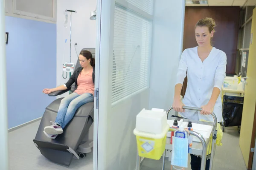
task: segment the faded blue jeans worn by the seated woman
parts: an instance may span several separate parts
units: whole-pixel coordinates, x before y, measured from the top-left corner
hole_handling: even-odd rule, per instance
[[[77,94],[73,92],[72,94],[64,97],[61,100],[60,107],[58,109],[57,117],[55,123],[60,125],[62,129],[70,122],[76,113],[76,110],[85,103],[93,102],[93,94],[84,93]]]

